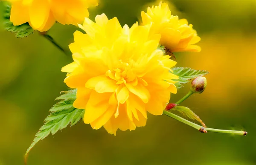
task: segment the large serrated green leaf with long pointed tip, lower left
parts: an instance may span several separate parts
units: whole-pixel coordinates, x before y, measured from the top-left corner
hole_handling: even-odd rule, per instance
[[[58,130],[67,127],[68,124],[70,126],[75,125],[84,116],[84,110],[73,107],[73,102],[76,100],[76,90],[64,91],[62,93],[64,94],[56,98],[61,101],[50,109],[51,113],[44,120],[44,125],[35,134],[35,139],[26,151],[25,160],[29,151],[40,140],[46,138],[50,133],[54,135]]]

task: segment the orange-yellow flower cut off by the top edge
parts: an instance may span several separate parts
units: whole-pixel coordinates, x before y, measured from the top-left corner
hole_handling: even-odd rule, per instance
[[[29,22],[33,29],[41,32],[49,30],[55,21],[77,25],[89,16],[87,8],[98,5],[98,0],[8,1],[12,3],[10,20],[15,26]]]

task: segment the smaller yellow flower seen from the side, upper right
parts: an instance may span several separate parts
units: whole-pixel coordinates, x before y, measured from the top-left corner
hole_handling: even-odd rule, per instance
[[[147,13],[141,12],[142,25],[152,24],[151,34],[161,34],[160,44],[171,52],[200,52],[198,43],[201,38],[188,24],[186,19],[171,15],[167,3],[160,2],[159,6],[148,7]]]

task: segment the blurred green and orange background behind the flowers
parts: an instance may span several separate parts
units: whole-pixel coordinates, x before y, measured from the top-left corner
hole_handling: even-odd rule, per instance
[[[101,0],[90,18],[104,12],[131,26],[150,2]],[[182,105],[208,127],[248,135],[202,134],[167,116],[149,115],[146,127],[117,136],[81,122],[39,142],[28,165],[256,165],[256,1],[169,2],[172,14],[188,19],[201,37],[202,51],[175,54],[177,66],[210,72],[205,92]],[[76,29],[55,24],[49,35],[67,48]],[[72,59],[37,32],[19,39],[1,30],[0,36],[0,165],[22,165],[54,99],[68,89],[60,70]],[[173,102],[188,88],[172,95]]]

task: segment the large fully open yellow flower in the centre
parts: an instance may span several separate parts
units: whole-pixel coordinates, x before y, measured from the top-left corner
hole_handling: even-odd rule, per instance
[[[70,44],[74,62],[63,67],[64,82],[77,88],[73,106],[85,109],[84,123],[108,133],[145,126],[147,111],[162,115],[170,93],[176,93],[176,62],[157,50],[160,35],[149,36],[150,25],[131,29],[116,17],[97,15],[79,25]]]

